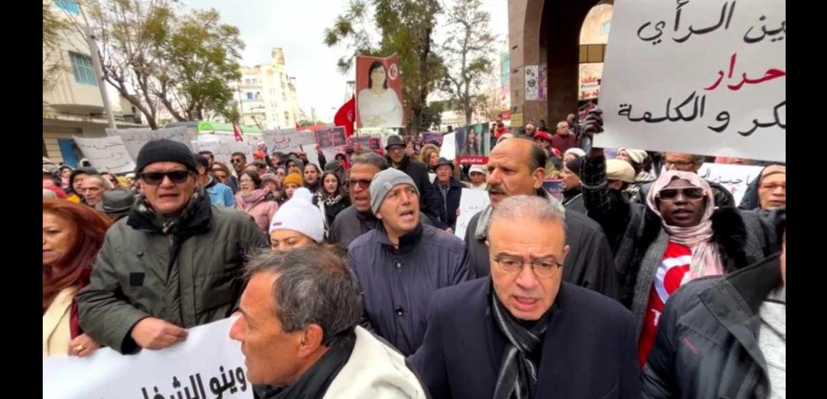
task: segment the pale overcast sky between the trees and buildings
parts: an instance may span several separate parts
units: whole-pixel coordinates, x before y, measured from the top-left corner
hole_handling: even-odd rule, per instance
[[[329,49],[323,44],[323,31],[347,7],[347,0],[185,0],[189,7],[215,8],[227,21],[241,30],[246,48],[242,64],[265,64],[270,49],[284,49],[287,74],[298,82],[299,107],[310,113],[314,107],[318,118],[332,121],[342,106],[346,82],[352,80],[336,68],[344,49]],[[508,36],[508,1],[484,0],[491,14],[491,31],[500,40]],[[437,40],[444,32],[439,31]],[[499,54],[500,48],[492,49]]]

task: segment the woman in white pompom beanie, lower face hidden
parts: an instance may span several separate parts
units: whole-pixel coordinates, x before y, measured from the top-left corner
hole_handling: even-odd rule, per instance
[[[291,250],[324,241],[322,212],[311,201],[313,194],[307,188],[297,188],[293,198],[279,207],[270,222],[270,248]]]

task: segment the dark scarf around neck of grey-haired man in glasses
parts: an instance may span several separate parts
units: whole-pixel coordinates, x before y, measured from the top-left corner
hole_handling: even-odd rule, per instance
[[[537,386],[539,368],[539,364],[535,364],[532,358],[534,352],[542,347],[551,311],[547,311],[535,325],[526,328],[509,314],[493,288],[491,309],[497,327],[508,340],[500,361],[494,399],[529,399],[533,397],[534,387]]]

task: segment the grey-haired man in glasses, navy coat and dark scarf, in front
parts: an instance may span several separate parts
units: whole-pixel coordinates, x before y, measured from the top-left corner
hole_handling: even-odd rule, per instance
[[[433,294],[410,358],[433,398],[639,397],[633,316],[563,282],[565,217],[538,196],[495,208],[490,277]]]

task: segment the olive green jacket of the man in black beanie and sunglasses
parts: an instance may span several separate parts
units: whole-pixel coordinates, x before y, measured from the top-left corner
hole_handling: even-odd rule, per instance
[[[269,247],[249,216],[212,206],[203,188],[181,216],[160,221],[144,198],[107,231],[92,278],[76,300],[80,325],[122,354],[134,325],[156,317],[191,328],[232,314],[246,256]]]

